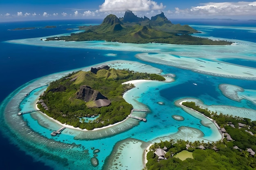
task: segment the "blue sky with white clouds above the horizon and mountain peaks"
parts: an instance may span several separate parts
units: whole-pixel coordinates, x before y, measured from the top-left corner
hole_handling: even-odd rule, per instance
[[[255,19],[256,1],[238,0],[0,0],[0,22],[123,17],[130,10],[138,17],[164,12],[171,18]]]

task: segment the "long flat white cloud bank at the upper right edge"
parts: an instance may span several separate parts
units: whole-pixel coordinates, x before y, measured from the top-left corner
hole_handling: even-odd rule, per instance
[[[199,15],[199,16],[245,16],[256,15],[255,2],[209,2],[191,9],[175,8],[176,14]]]

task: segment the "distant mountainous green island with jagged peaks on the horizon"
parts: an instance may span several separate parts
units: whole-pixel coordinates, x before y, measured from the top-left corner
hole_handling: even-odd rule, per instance
[[[81,33],[71,33],[68,36],[49,37],[45,41],[94,41],[105,40],[108,42],[124,43],[165,43],[186,45],[230,45],[232,42],[224,40],[210,40],[189,34],[198,33],[189,25],[172,24],[164,13],[151,17],[139,18],[126,11],[124,17],[108,15],[100,25],[80,26],[84,29]]]

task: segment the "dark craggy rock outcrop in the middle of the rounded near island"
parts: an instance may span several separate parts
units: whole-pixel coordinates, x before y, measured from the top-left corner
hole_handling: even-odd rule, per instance
[[[93,90],[90,86],[80,86],[79,92],[76,93],[76,99],[81,99],[85,102],[90,102],[98,99],[108,99],[99,91]]]

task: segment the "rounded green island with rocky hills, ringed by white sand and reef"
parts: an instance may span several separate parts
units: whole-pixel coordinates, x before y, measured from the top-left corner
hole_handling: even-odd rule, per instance
[[[40,96],[38,108],[62,124],[92,130],[123,121],[132,105],[123,94],[134,84],[122,84],[136,79],[164,81],[158,74],[117,70],[103,65],[91,71],[70,73],[51,82]],[[87,121],[88,118],[94,118]]]

